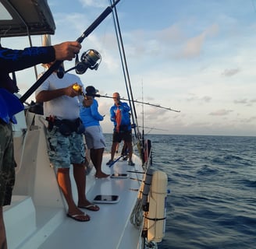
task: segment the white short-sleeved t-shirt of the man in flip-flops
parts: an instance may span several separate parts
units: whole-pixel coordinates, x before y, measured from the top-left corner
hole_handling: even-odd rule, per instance
[[[41,86],[35,92],[37,96],[43,90],[54,90],[65,88],[67,86],[78,83],[80,86],[84,85],[81,82],[80,78],[76,75],[66,73],[62,79],[59,79],[55,72],[52,73],[46,79]],[[44,102],[44,116],[48,117],[50,115],[58,117],[59,119],[69,119],[73,120],[77,117],[80,117],[80,105],[82,104],[84,97],[83,96],[59,96],[54,100]]]

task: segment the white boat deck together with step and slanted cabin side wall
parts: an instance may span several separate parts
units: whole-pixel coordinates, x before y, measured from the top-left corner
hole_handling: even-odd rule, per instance
[[[40,121],[38,122],[40,124]],[[89,222],[77,222],[66,217],[66,202],[63,201],[54,170],[49,167],[46,156],[44,128],[32,129],[23,140],[18,136],[16,147],[27,149],[16,152],[18,168],[12,205],[5,207],[4,219],[9,249],[107,249],[137,248],[140,232],[130,224],[130,214],[137,202],[137,191],[143,174],[127,173],[128,178],[95,179],[94,168],[87,175],[87,198],[95,195],[119,195],[116,204],[98,204],[98,212],[83,209],[91,216]],[[26,154],[27,153],[27,154]],[[23,155],[23,156],[21,156]],[[110,154],[105,154],[102,170],[107,174],[126,173],[126,170],[142,171],[140,159],[133,156],[135,167],[120,159],[112,167],[105,163]],[[72,174],[72,173],[71,173]],[[77,200],[76,187],[73,196]]]

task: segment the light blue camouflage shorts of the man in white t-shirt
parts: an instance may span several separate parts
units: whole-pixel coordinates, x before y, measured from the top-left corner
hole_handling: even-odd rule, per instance
[[[64,136],[59,128],[54,126],[47,132],[48,156],[51,164],[56,168],[69,168],[71,163],[84,163],[85,147],[82,134],[72,132]]]

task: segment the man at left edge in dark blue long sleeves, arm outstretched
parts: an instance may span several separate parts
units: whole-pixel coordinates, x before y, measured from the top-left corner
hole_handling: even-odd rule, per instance
[[[9,73],[55,60],[71,61],[80,48],[81,45],[77,41],[68,41],[49,47],[27,47],[23,50],[12,50],[0,44],[0,248],[7,248],[2,207],[10,205],[15,183],[16,162],[13,152],[12,115],[23,110],[20,100],[12,96],[12,93],[17,93],[19,88],[9,77]],[[15,101],[20,103],[21,107],[17,108],[20,110],[11,110]]]

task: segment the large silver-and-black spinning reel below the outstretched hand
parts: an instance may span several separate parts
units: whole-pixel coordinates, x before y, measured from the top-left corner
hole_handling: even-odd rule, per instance
[[[76,54],[76,62],[73,68],[69,68],[65,71],[64,68],[60,66],[57,71],[59,79],[62,79],[66,72],[69,72],[73,69],[76,70],[76,74],[78,75],[84,74],[88,68],[91,70],[97,70],[101,63],[101,54],[99,54],[98,51],[94,49],[88,49],[81,55],[80,60],[81,61],[79,61],[78,54]]]

